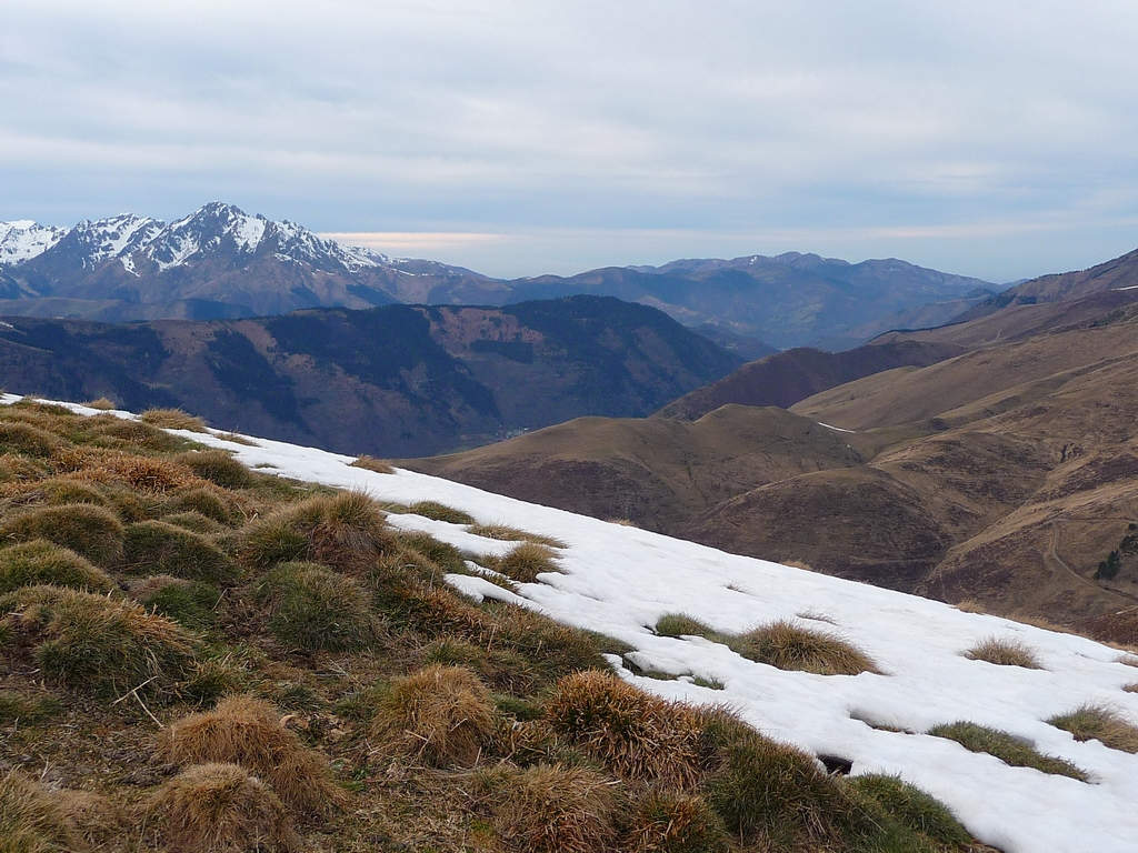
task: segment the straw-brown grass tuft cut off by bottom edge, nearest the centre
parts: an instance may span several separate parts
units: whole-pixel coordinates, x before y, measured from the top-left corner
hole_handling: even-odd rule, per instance
[[[483,776],[494,826],[510,850],[608,853],[621,808],[612,781],[585,768],[539,764]]]

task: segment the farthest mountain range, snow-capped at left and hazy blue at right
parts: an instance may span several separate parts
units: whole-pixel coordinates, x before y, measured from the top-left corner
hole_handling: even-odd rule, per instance
[[[395,303],[509,305],[571,295],[660,308],[744,358],[841,350],[948,322],[998,285],[904,260],[751,255],[505,281],[344,247],[218,201],[176,222],[123,214],[71,229],[0,223],[0,314],[216,320]]]

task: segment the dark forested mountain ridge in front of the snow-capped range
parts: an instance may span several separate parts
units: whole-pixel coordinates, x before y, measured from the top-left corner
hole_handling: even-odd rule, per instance
[[[222,429],[377,456],[483,445],[582,415],[642,417],[741,363],[662,312],[611,297],[0,322],[5,390],[181,406]]]

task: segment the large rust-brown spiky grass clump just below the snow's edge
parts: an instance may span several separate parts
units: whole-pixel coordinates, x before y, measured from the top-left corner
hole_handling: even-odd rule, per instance
[[[688,788],[708,760],[703,714],[607,672],[562,678],[545,702],[545,721],[626,781]]]

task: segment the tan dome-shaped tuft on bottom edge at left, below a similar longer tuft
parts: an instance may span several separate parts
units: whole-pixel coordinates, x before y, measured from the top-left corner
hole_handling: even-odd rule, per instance
[[[302,846],[272,788],[236,764],[189,768],[155,793],[147,811],[171,853],[284,853]]]

